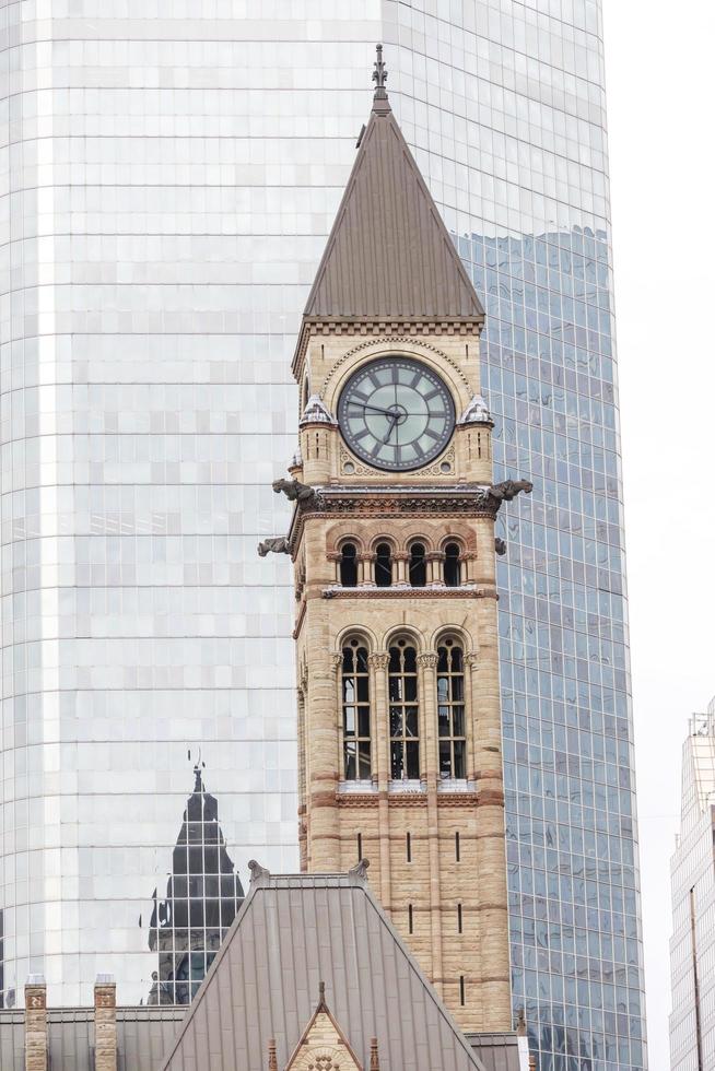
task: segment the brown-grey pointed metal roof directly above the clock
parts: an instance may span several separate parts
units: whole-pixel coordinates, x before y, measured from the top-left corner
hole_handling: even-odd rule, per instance
[[[375,99],[304,315],[483,320],[386,95]]]

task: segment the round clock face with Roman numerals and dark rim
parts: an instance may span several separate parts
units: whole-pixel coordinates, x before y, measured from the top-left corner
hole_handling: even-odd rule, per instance
[[[338,402],[350,449],[376,469],[419,469],[452,437],[455,407],[439,376],[411,357],[379,357],[353,373]]]

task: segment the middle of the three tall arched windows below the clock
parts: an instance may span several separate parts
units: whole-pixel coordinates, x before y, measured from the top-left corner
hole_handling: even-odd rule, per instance
[[[399,781],[420,776],[417,651],[398,639],[389,654],[390,776]]]

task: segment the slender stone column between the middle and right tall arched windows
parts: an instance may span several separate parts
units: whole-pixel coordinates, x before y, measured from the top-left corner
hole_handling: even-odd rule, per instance
[[[420,706],[422,711],[420,765],[425,770],[427,785],[427,846],[430,852],[430,926],[432,934],[432,984],[442,996],[442,888],[439,881],[439,814],[437,810],[437,782],[439,760],[437,742],[437,687],[435,670],[436,651],[418,655],[420,668]]]

